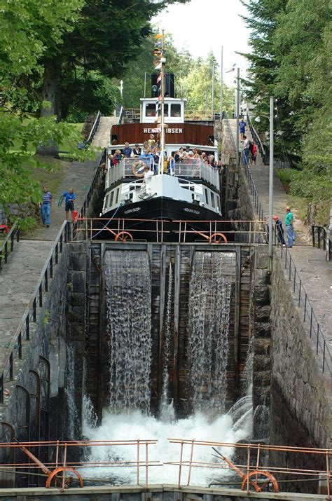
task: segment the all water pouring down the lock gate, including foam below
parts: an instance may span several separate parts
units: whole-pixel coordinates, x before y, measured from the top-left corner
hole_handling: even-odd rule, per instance
[[[203,254],[203,253],[202,253]],[[92,440],[156,439],[158,444],[148,452],[149,460],[164,463],[163,467],[149,469],[149,483],[174,483],[177,479],[176,466],[166,464],[178,458],[178,449],[170,444],[168,437],[225,441],[235,443],[246,438],[247,427],[236,427],[230,413],[223,413],[225,401],[225,381],[227,364],[227,336],[230,294],[235,277],[235,254],[226,252],[196,252],[193,260],[190,282],[190,301],[188,305],[189,341],[191,352],[191,386],[193,387],[193,413],[184,419],[177,419],[170,402],[170,367],[172,344],[172,265],[164,312],[164,341],[162,353],[162,391],[160,392],[159,416],[148,412],[151,394],[151,282],[148,254],[135,251],[107,252],[105,258],[106,282],[106,327],[109,336],[109,406],[104,409],[102,425],[95,427],[84,420],[83,432]],[[175,275],[175,273],[174,273]],[[202,295],[202,299],[200,296]],[[204,306],[203,306],[204,303]],[[203,311],[203,308],[206,311]],[[221,310],[221,312],[219,311]],[[193,318],[191,318],[191,315]],[[207,319],[210,315],[210,319]],[[214,328],[216,332],[214,332]],[[200,337],[205,341],[201,346]],[[222,338],[217,340],[217,337]],[[222,341],[222,342],[221,342]],[[216,345],[212,346],[212,343]],[[209,346],[205,354],[204,349]],[[213,349],[212,349],[213,348]],[[212,352],[216,350],[216,355]],[[213,357],[214,369],[208,370],[208,356]],[[198,358],[202,360],[198,360]],[[200,366],[202,364],[202,367]],[[201,368],[200,368],[201,367]],[[219,374],[218,371],[223,371]],[[198,376],[195,385],[195,374]],[[213,378],[216,378],[213,380]],[[203,394],[203,386],[207,392]],[[221,392],[218,397],[213,392]],[[204,395],[204,396],[203,396]],[[214,405],[207,406],[207,395]],[[171,409],[172,407],[172,409]],[[88,414],[88,413],[87,413]],[[135,448],[92,448],[89,460],[135,461]],[[135,449],[136,450],[136,449]],[[188,451],[187,451],[188,452]],[[186,453],[187,454],[187,453]],[[140,459],[144,462],[145,453]],[[184,460],[188,457],[184,455]],[[209,448],[198,447],[195,460],[213,461]],[[142,468],[141,474],[144,475]],[[205,468],[193,469],[192,481],[196,485],[208,485],[214,479],[227,475],[223,471],[214,472]],[[113,478],[115,483],[135,483],[135,468],[105,467],[96,471],[88,469],[85,476],[93,478]]]

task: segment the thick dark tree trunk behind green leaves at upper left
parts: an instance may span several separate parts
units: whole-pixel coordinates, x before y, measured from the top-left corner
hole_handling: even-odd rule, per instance
[[[42,101],[48,101],[50,107],[41,106],[40,116],[55,115],[57,121],[61,118],[61,60],[55,57],[46,60],[44,64],[43,86],[41,88]],[[46,144],[39,144],[37,155],[59,156],[59,147],[50,140]]]

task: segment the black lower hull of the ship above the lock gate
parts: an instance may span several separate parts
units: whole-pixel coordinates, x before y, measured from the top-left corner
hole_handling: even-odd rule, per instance
[[[201,205],[170,198],[151,198],[151,200],[125,204],[106,212],[102,217],[102,221],[97,221],[97,226],[94,223],[93,239],[118,240],[120,242],[124,240],[208,242],[209,237],[214,233],[228,230],[228,226],[219,214]],[[125,221],[118,221],[118,219],[125,219]],[[144,221],[139,221],[140,219],[144,219]],[[186,225],[174,222],[179,220],[190,222],[187,222]],[[118,235],[118,233],[121,234]]]

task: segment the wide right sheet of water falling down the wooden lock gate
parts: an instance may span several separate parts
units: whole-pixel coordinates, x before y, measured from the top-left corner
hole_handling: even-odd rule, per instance
[[[220,416],[225,408],[230,292],[235,253],[196,252],[189,295],[189,359],[195,411]]]

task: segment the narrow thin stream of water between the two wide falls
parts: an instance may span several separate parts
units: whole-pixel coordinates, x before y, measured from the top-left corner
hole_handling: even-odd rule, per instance
[[[162,349],[162,394],[159,404],[159,415],[162,421],[170,423],[174,420],[173,402],[169,402],[169,383],[170,375],[168,373],[168,365],[170,363],[170,341],[172,335],[172,263],[170,263],[170,271],[168,274],[168,288],[166,299],[166,312],[164,322],[164,343]]]

